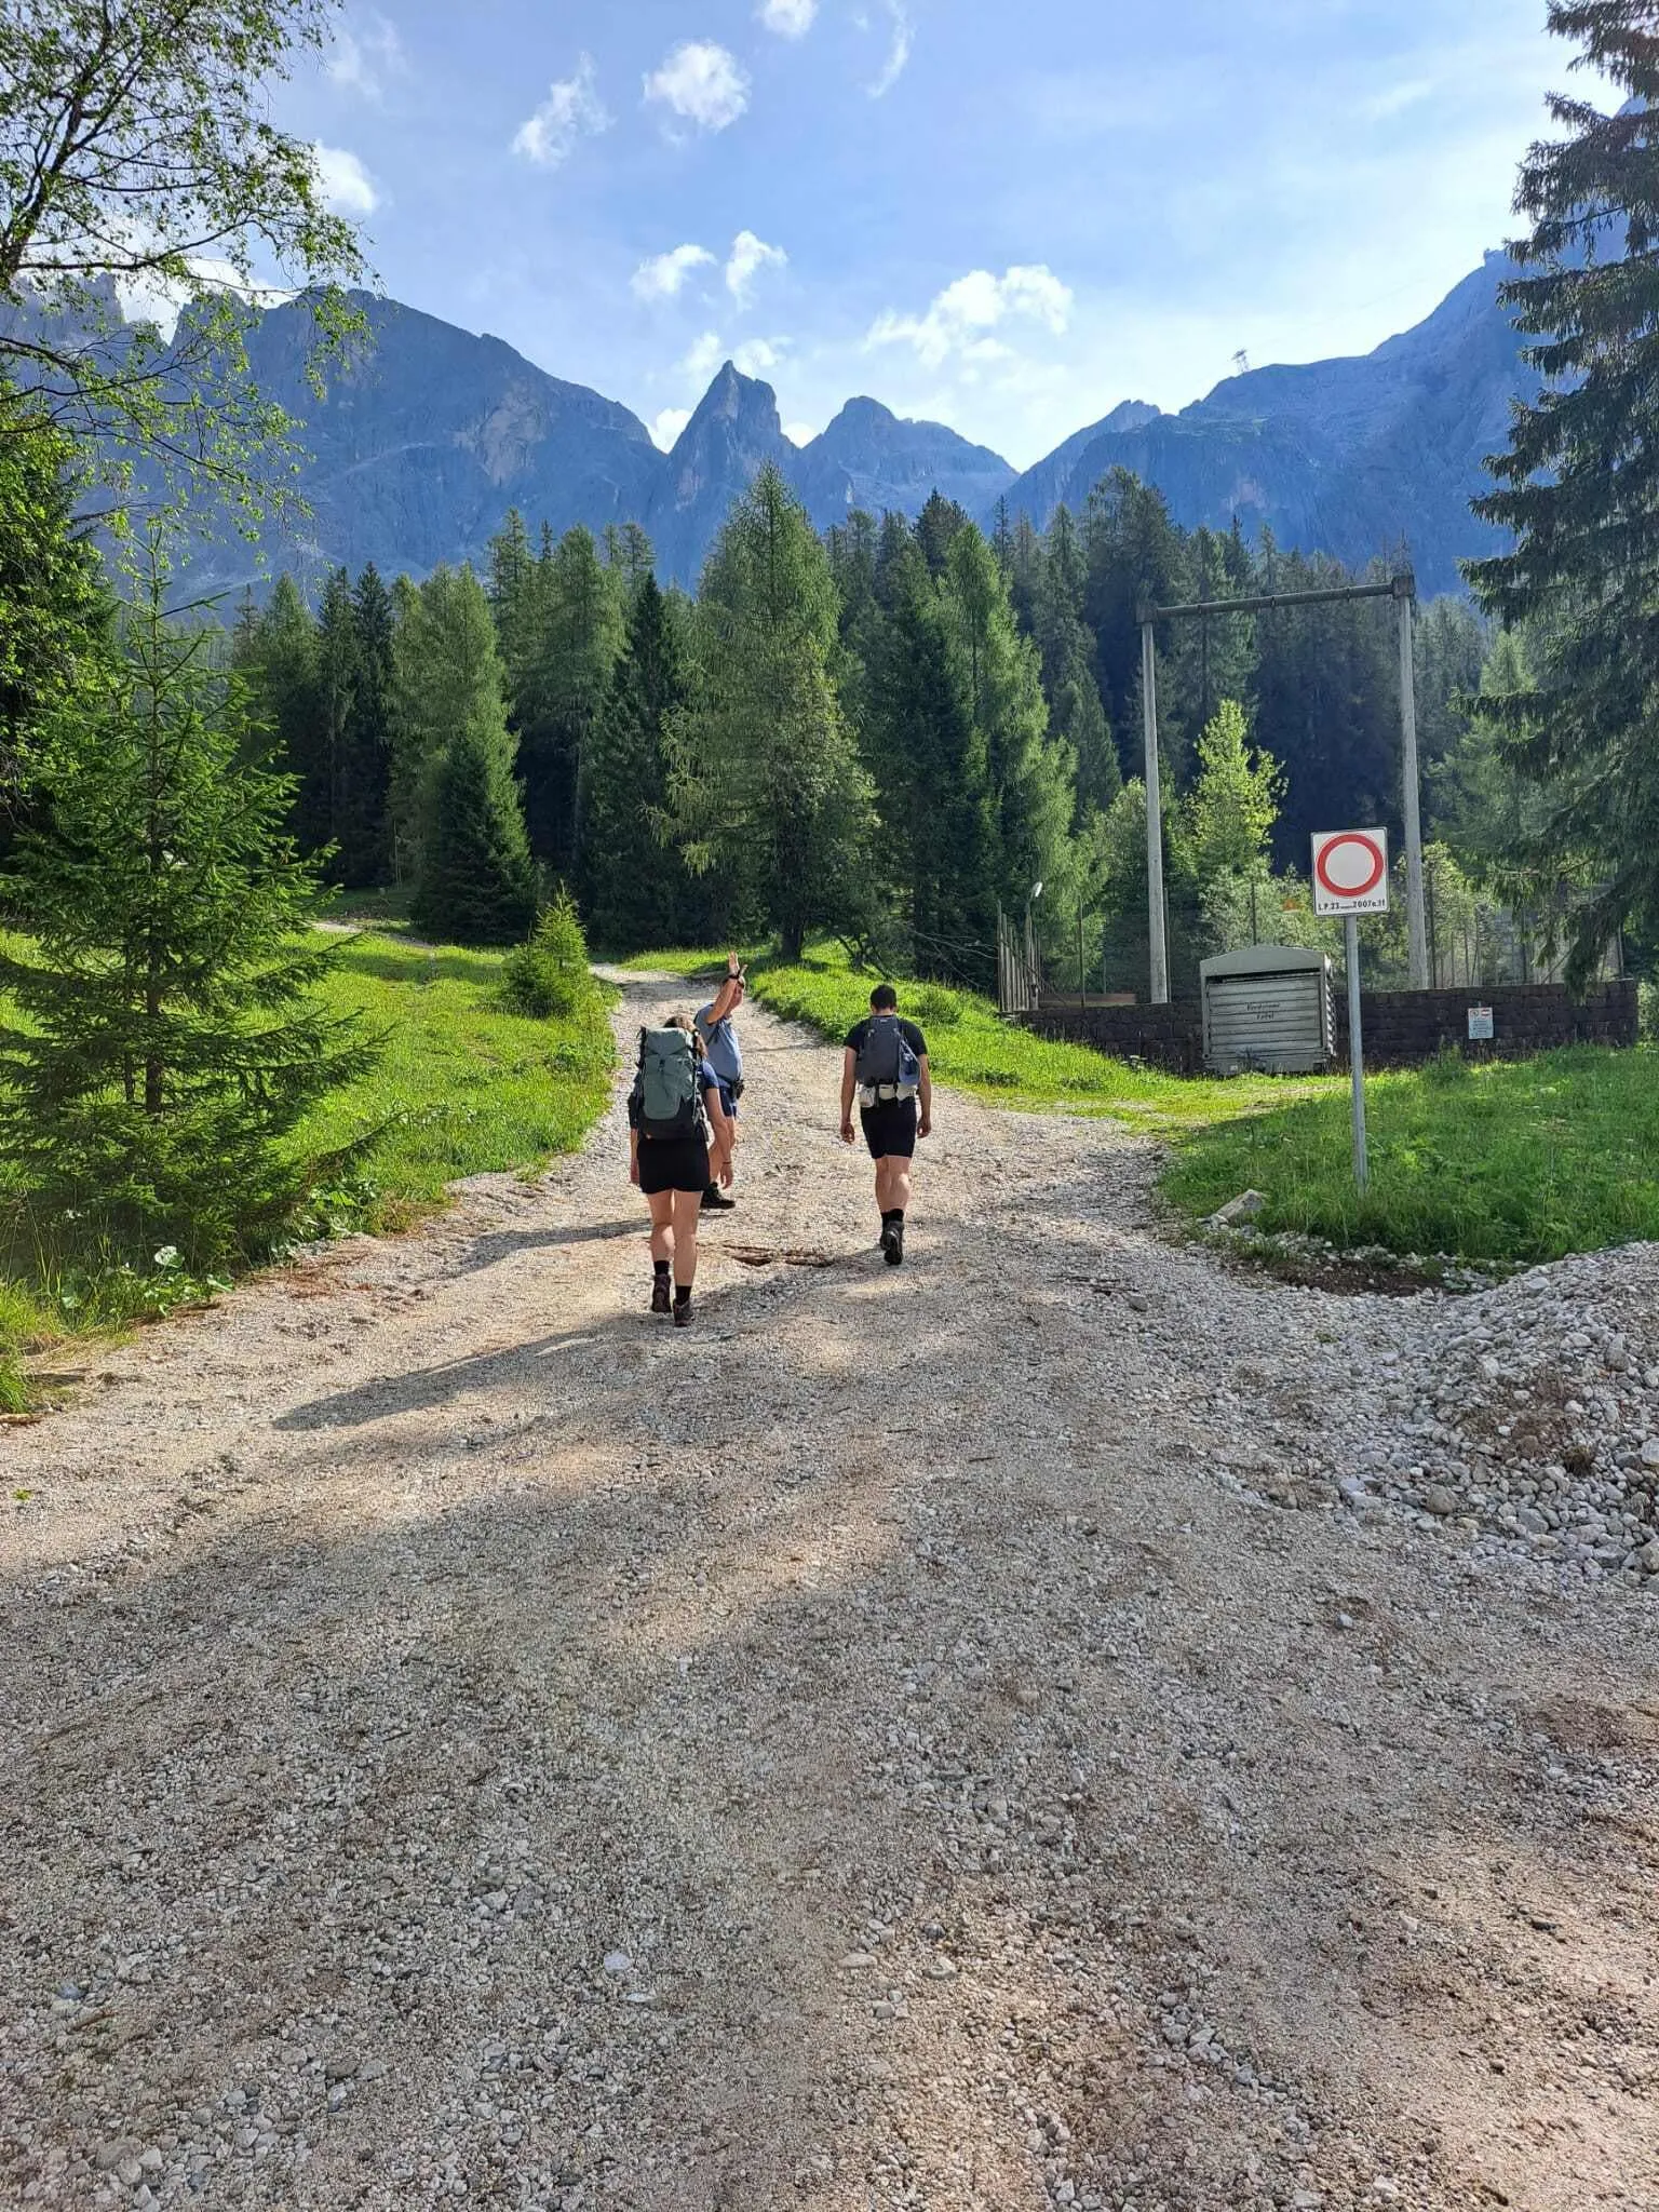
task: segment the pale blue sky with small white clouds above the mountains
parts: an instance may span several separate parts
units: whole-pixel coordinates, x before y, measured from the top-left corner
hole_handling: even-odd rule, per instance
[[[283,93],[394,299],[668,438],[726,356],[1018,467],[1367,352],[1511,230],[1542,0],[354,0]]]

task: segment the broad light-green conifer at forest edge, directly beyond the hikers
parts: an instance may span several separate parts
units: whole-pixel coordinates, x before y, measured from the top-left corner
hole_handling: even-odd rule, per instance
[[[830,557],[776,467],[732,509],[697,606],[670,812],[695,872],[748,896],[799,958],[867,905],[869,783],[841,712]]]

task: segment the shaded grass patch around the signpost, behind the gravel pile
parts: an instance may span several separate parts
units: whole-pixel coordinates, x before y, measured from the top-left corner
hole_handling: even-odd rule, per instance
[[[1659,1237],[1659,1060],[1579,1046],[1438,1062],[1367,1084],[1371,1188],[1354,1188],[1345,1086],[1186,1133],[1164,1179],[1201,1219],[1261,1190],[1265,1230],[1343,1250],[1522,1263]]]

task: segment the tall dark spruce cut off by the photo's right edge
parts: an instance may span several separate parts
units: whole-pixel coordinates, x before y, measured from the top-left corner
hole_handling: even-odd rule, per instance
[[[1517,860],[1584,885],[1566,936],[1586,980],[1619,927],[1659,927],[1659,4],[1551,0],[1548,24],[1624,104],[1553,97],[1566,135],[1522,164],[1515,208],[1533,230],[1500,296],[1542,389],[1515,405],[1489,462],[1498,489],[1475,500],[1513,551],[1467,575],[1493,619],[1528,626],[1531,686],[1478,712],[1544,785]]]

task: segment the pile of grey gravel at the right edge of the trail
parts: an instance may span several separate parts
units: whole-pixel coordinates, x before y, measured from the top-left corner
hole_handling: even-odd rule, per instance
[[[1659,1248],[1416,1301],[1356,1352],[1336,1473],[1349,1504],[1383,1498],[1478,1557],[1659,1595]]]

